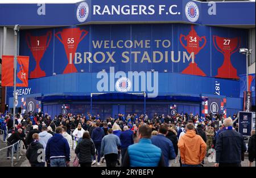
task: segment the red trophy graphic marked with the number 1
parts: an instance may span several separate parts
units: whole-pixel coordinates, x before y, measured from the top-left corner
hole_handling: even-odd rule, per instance
[[[30,73],[30,78],[39,78],[39,77],[45,77],[46,73],[41,69],[40,67],[40,61],[42,60],[42,57],[44,56],[44,52],[46,52],[46,49],[49,46],[49,42],[52,38],[52,32],[48,31],[46,35],[43,36],[32,36],[30,33],[26,34],[26,41],[28,48],[30,49],[35,61],[36,66],[33,71]],[[48,39],[48,42],[47,42]]]

